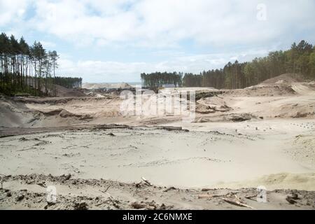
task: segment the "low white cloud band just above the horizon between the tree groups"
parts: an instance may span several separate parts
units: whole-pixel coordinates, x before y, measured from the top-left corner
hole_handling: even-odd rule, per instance
[[[140,73],[155,71],[182,71],[199,73],[209,69],[219,69],[229,61],[244,62],[249,58],[265,55],[267,50],[248,52],[230,52],[226,54],[185,55],[176,56],[162,62],[104,62],[78,61],[70,57],[60,56],[58,74],[83,77],[84,82],[135,82],[139,81]],[[202,69],[201,69],[202,68]]]

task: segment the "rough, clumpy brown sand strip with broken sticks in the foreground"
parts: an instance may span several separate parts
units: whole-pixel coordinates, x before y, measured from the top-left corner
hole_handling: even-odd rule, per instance
[[[315,192],[305,190],[269,190],[258,202],[255,188],[167,188],[38,174],[6,181],[0,209],[315,209]],[[49,186],[57,188],[56,202],[46,201]]]

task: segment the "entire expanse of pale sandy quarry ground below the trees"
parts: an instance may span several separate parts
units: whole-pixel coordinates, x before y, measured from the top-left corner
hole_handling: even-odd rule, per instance
[[[314,209],[314,83],[278,78],[161,95],[179,90],[196,92],[189,123],[163,108],[160,116],[125,115],[113,94],[3,97],[0,208]],[[57,204],[45,202],[49,185]],[[267,203],[246,198],[258,186]]]

